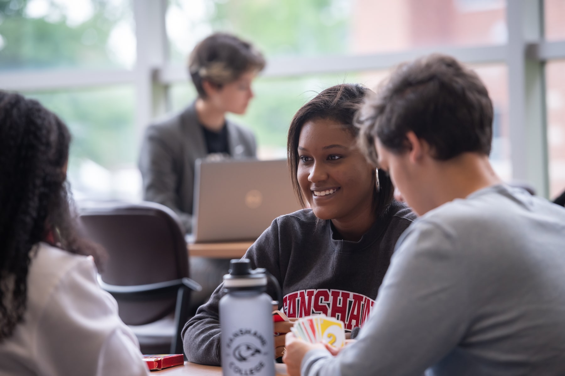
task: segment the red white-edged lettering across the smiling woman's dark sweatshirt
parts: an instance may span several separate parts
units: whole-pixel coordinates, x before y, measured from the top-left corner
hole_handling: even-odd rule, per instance
[[[305,317],[323,313],[345,324],[346,330],[362,326],[375,300],[344,290],[309,289],[294,291],[282,299],[288,317]]]

